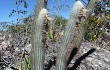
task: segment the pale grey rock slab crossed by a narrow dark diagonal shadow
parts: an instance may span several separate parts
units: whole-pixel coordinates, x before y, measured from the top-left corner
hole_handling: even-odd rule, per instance
[[[90,42],[83,42],[81,44],[78,53],[71,63],[74,65],[75,61],[82,55],[86,54],[91,48],[95,48],[96,50],[80,62],[77,70],[110,70],[110,51],[99,48]]]

